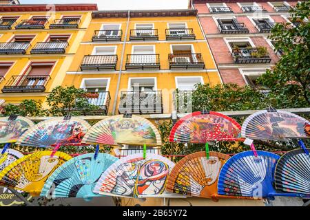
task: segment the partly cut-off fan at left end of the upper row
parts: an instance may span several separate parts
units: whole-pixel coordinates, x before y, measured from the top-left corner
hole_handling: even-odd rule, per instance
[[[0,144],[13,143],[34,123],[21,116],[0,117]]]

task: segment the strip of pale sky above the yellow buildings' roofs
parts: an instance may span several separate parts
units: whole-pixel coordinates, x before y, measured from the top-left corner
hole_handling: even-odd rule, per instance
[[[19,0],[21,4],[97,3],[99,10],[186,9],[189,0]]]

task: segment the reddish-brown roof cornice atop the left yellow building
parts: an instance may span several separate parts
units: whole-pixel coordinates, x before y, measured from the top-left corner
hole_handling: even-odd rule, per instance
[[[94,11],[96,4],[33,4],[33,5],[1,5],[0,12],[49,12],[49,11]]]

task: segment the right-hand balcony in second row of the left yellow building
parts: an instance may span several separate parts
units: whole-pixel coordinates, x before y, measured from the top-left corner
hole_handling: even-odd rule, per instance
[[[37,43],[30,54],[65,54],[68,42],[40,42]]]

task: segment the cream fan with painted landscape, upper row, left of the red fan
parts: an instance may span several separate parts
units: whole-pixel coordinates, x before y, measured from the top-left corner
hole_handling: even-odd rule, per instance
[[[137,115],[125,118],[115,115],[94,124],[85,134],[87,144],[134,144],[161,145],[161,135],[149,120]]]

